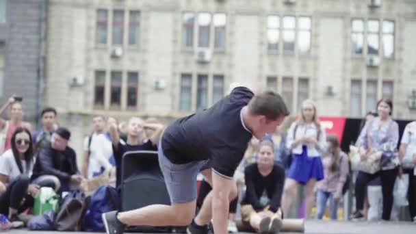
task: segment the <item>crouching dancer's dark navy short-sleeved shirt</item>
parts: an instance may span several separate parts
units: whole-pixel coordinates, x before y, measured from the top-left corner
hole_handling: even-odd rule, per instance
[[[248,88],[238,87],[211,108],[175,121],[161,139],[164,155],[173,164],[212,159],[217,174],[233,177],[252,138],[241,110],[253,96]]]

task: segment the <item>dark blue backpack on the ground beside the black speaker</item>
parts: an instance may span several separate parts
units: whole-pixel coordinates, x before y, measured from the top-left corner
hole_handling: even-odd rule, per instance
[[[90,203],[83,217],[83,231],[104,231],[104,223],[101,215],[108,211],[118,210],[120,198],[114,187],[101,185],[91,195]]]

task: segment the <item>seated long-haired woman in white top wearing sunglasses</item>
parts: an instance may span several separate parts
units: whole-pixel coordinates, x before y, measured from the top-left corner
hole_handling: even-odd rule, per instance
[[[10,221],[18,221],[18,213],[34,205],[38,193],[38,185],[30,183],[34,160],[30,132],[18,127],[12,135],[12,148],[0,156],[0,181],[7,186],[0,196],[0,213]]]

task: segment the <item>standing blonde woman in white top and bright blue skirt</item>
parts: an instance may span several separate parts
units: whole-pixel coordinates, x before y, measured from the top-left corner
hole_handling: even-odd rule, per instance
[[[321,155],[326,149],[326,134],[317,120],[316,105],[312,100],[302,103],[301,118],[294,122],[287,133],[286,146],[291,151],[292,161],[283,193],[283,213],[289,213],[296,199],[298,183],[306,185],[305,218],[311,216],[314,202],[313,189],[316,181],[324,179]]]

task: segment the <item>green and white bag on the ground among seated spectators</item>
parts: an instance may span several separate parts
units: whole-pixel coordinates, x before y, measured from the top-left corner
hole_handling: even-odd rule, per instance
[[[54,210],[57,212],[60,208],[60,196],[55,193],[51,187],[40,187],[38,196],[35,198],[34,215],[39,216],[44,211]]]

